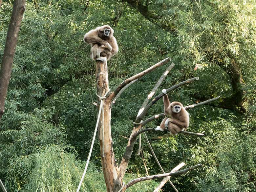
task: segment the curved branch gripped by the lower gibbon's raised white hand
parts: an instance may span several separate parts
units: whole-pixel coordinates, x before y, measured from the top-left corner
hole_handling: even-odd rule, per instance
[[[194,77],[185,81],[182,81],[180,83],[178,83],[177,85],[174,85],[172,87],[170,87],[169,89],[166,90],[166,93],[169,93],[170,91],[173,91],[175,89],[177,89],[178,87],[185,85],[187,83],[191,83],[195,80],[199,80],[199,77]],[[156,96],[152,101],[149,102],[149,104],[144,108],[140,110],[140,113],[138,113],[137,118],[135,120],[136,123],[140,122],[141,119],[146,115],[147,111],[149,110],[149,108],[155,104],[164,94],[160,93],[158,96]]]

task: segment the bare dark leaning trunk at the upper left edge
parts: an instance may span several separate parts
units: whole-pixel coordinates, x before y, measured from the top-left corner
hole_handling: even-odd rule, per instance
[[[0,2],[1,3],[1,2]],[[1,5],[1,4],[0,4]],[[25,0],[15,0],[7,33],[5,50],[0,70],[0,119],[4,114],[5,99],[11,78],[11,66],[17,44],[20,23],[25,11]]]

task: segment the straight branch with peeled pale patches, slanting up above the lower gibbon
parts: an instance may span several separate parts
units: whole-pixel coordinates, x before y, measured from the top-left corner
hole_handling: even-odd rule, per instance
[[[159,88],[159,86],[161,85],[161,83],[164,81],[164,79],[166,78],[166,76],[168,75],[168,73],[172,70],[172,68],[174,67],[174,63],[172,63],[165,72],[163,72],[163,74],[160,76],[158,82],[156,83],[155,87],[152,89],[152,91],[148,94],[147,98],[144,100],[144,102],[142,103],[138,114],[140,113],[141,110],[143,110],[147,104],[149,103],[150,99],[155,95],[157,89]]]

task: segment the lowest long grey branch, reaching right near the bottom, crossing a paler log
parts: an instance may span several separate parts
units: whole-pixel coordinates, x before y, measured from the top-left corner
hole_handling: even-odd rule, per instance
[[[138,182],[141,182],[141,181],[158,179],[158,178],[168,177],[168,176],[177,176],[177,175],[181,175],[181,174],[187,173],[187,172],[189,172],[189,171],[191,171],[193,169],[196,169],[196,168],[202,167],[202,166],[203,165],[200,163],[198,165],[189,167],[187,169],[183,169],[181,171],[175,171],[175,172],[171,172],[171,173],[164,173],[164,174],[158,174],[158,175],[151,175],[151,176],[148,176],[148,177],[140,177],[140,178],[134,179],[134,180],[130,181],[129,183],[127,183],[126,189],[129,188],[130,186],[138,183]]]

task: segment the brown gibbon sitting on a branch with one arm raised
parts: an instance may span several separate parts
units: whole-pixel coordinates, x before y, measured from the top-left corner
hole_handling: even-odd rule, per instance
[[[165,94],[163,96],[164,112],[168,117],[162,120],[156,131],[164,131],[164,128],[168,127],[172,135],[177,135],[188,127],[189,114],[180,102],[174,101],[170,104],[165,89],[162,90],[162,93]]]

